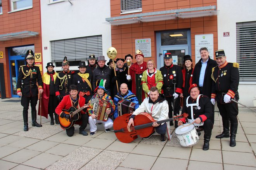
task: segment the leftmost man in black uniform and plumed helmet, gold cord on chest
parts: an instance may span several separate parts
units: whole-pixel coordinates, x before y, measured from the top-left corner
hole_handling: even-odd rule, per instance
[[[21,96],[21,105],[23,106],[24,131],[28,131],[28,107],[31,105],[32,126],[42,127],[36,122],[36,104],[39,92],[43,93],[43,81],[38,66],[34,65],[35,57],[32,50],[28,50],[25,55],[27,65],[19,68],[19,76],[17,81],[17,94]]]

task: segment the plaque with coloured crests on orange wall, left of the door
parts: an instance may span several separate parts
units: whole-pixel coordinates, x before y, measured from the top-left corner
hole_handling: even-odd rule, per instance
[[[151,57],[151,38],[135,39],[135,50],[140,49],[144,57]]]

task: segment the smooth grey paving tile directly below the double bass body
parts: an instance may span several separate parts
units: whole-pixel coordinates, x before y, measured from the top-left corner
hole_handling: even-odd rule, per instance
[[[107,147],[106,150],[130,153],[136,145],[138,145],[138,143],[121,143],[120,141],[115,141]]]

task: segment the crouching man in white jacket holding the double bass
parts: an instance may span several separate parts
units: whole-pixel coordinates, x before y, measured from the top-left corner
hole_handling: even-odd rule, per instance
[[[152,87],[149,92],[149,97],[145,98],[140,107],[136,109],[130,117],[130,120],[127,125],[127,129],[130,129],[130,126],[134,126],[133,120],[136,119],[136,115],[147,112],[150,116],[153,117],[156,121],[161,121],[164,119],[168,119],[168,102],[165,100],[162,94],[159,94],[156,87]],[[166,141],[165,133],[167,129],[166,122],[162,124],[157,124],[153,122],[152,126],[155,127],[156,132],[161,134],[161,142]],[[144,139],[149,139],[155,132],[150,134]]]

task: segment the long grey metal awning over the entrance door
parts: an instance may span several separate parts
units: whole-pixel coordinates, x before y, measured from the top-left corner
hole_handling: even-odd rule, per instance
[[[152,22],[160,20],[170,20],[178,18],[193,18],[217,15],[215,5],[208,7],[183,8],[175,10],[165,10],[157,12],[147,12],[141,14],[123,15],[119,17],[106,18],[111,25],[132,24],[136,22]]]

